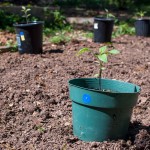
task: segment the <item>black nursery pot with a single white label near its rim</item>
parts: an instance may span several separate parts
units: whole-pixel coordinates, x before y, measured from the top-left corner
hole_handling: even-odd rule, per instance
[[[111,36],[114,26],[113,18],[94,18],[94,42],[111,42]]]

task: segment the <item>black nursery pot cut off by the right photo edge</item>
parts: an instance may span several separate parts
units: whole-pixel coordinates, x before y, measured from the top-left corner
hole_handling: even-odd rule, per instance
[[[137,36],[150,37],[150,19],[137,19],[135,32]]]

